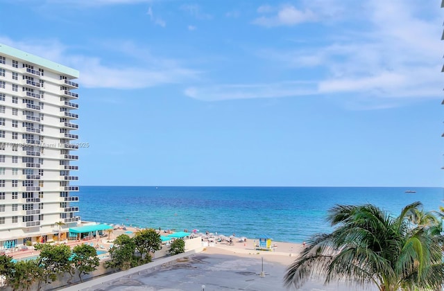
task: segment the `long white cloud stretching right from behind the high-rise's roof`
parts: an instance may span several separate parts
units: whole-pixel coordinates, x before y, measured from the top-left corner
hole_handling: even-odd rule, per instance
[[[118,64],[106,66],[99,57],[68,53],[68,47],[57,41],[30,39],[26,42],[15,42],[12,39],[0,37],[0,43],[80,71],[78,82],[82,87],[87,88],[136,89],[155,87],[196,80],[199,75],[198,71],[181,67],[173,60],[156,58],[132,44],[120,41],[119,46],[110,44],[110,47],[119,47],[121,53],[128,55],[128,58],[138,56],[141,51],[144,51],[144,55],[148,56],[139,60],[139,64],[144,65],[137,67],[124,67]]]

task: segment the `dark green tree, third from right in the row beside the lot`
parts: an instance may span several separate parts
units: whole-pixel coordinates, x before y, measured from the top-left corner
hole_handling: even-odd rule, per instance
[[[114,246],[110,249],[110,261],[106,262],[106,267],[117,270],[128,270],[130,267],[138,265],[138,258],[135,256],[136,245],[133,238],[126,234],[117,236]]]

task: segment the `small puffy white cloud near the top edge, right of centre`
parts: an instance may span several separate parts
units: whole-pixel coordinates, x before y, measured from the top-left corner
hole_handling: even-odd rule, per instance
[[[260,6],[257,8],[257,12],[271,13],[273,8],[270,6]],[[314,12],[309,9],[298,10],[294,6],[283,6],[280,8],[276,15],[272,16],[261,16],[253,21],[253,24],[259,26],[273,27],[273,26],[294,26],[296,24],[301,24],[303,22],[316,21],[317,17]]]

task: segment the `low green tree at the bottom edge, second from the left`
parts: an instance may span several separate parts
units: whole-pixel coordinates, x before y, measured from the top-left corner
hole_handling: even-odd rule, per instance
[[[43,272],[36,260],[18,261],[6,276],[6,283],[13,290],[31,290],[35,282],[42,281]],[[40,283],[37,290],[40,290]]]

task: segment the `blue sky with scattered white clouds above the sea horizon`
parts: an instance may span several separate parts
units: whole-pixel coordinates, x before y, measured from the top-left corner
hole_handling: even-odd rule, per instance
[[[80,71],[82,185],[443,186],[441,1],[2,0]]]

